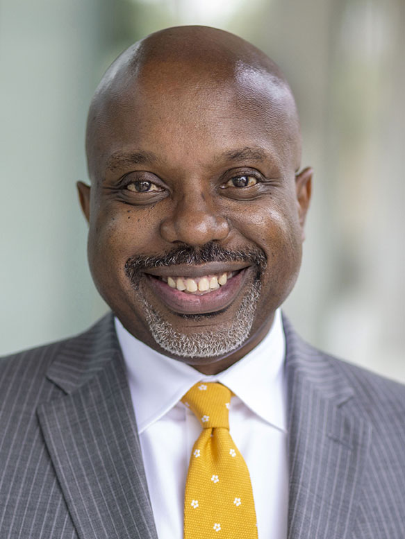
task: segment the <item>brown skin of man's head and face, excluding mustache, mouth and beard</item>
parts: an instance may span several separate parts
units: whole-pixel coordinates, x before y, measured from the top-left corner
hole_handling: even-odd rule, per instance
[[[131,257],[159,259],[179,248],[198,253],[207,245],[263,253],[267,264],[245,343],[220,357],[171,354],[205,374],[245,356],[295,284],[311,197],[312,170],[299,172],[297,110],[279,68],[251,44],[214,28],[152,34],[101,80],[86,150],[91,187],[79,182],[78,192],[90,223],[90,270],[124,327],[167,354],[151,335],[145,304],[185,334],[226,330],[258,273],[254,263],[226,262],[226,270],[245,271],[224,308],[204,314],[199,307],[199,316],[183,316],[190,307],[168,307],[154,277],[206,275],[224,263],[147,268],[134,286],[126,271]]]

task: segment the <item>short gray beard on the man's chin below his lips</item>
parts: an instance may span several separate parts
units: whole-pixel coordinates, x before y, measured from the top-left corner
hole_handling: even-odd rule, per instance
[[[178,332],[158,311],[155,311],[150,305],[145,305],[144,309],[149,330],[156,343],[163,350],[167,350],[167,352],[176,356],[191,358],[215,357],[228,354],[238,348],[249,337],[260,291],[261,282],[256,280],[251,284],[249,291],[242,299],[231,325],[224,329],[209,330],[204,333],[185,334]]]

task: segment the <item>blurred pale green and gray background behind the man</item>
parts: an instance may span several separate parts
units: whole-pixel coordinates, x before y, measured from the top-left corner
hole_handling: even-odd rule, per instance
[[[404,0],[0,0],[1,353],[103,314],[75,182],[104,70],[165,26],[244,37],[285,72],[315,169],[299,282],[313,344],[405,382]]]

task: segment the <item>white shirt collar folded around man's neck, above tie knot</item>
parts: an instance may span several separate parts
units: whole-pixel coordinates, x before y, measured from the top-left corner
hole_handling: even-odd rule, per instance
[[[231,367],[206,376],[177,359],[167,357],[135,339],[115,318],[122,348],[138,433],[170,411],[197,382],[221,382],[254,413],[286,431],[286,340],[281,311],[277,309],[270,332]]]

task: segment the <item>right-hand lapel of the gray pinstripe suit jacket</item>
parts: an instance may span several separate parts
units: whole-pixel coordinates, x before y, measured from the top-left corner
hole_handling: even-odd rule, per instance
[[[287,341],[288,539],[345,539],[356,516],[371,427],[354,390],[284,320]]]

